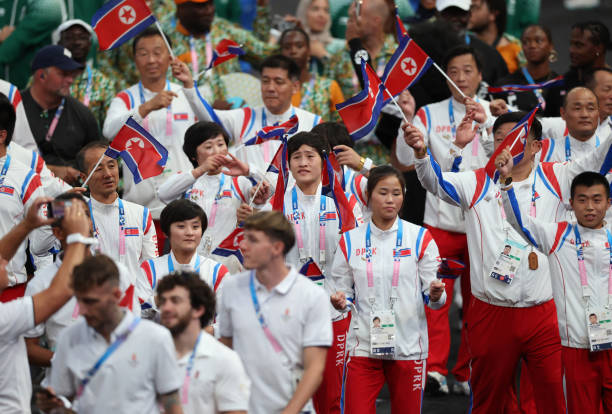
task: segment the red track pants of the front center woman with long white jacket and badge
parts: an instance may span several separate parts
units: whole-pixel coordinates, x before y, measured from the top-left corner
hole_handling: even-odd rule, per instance
[[[420,414],[425,367],[425,360],[392,361],[351,357],[344,391],[344,412],[376,414],[376,397],[386,381],[391,393],[393,414]]]

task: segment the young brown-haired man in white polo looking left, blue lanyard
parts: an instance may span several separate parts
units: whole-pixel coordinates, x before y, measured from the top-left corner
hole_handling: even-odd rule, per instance
[[[280,212],[256,213],[244,228],[240,250],[251,270],[225,282],[221,342],[236,350],[253,381],[250,414],[313,412],[310,398],[332,343],[329,297],[285,264],[295,235]]]

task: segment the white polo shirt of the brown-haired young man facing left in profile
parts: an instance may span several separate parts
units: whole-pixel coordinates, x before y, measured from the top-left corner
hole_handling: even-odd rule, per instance
[[[292,372],[303,368],[304,348],[331,346],[329,296],[293,267],[270,291],[254,278],[261,311],[283,349],[281,356],[259,324],[250,279],[251,272],[242,272],[226,280],[218,307],[219,330],[221,337],[233,339],[234,350],[253,381],[249,414],[278,413],[293,396]]]

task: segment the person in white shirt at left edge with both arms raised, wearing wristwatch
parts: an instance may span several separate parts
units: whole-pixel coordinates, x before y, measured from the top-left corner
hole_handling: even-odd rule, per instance
[[[20,243],[34,228],[49,224],[52,220],[39,215],[40,207],[49,201],[39,198],[28,210],[28,215],[0,239],[0,290],[8,286],[6,259],[17,251]],[[85,245],[83,236],[88,235],[88,223],[81,206],[69,207],[64,216],[66,231],[77,241],[66,247],[64,261],[51,285],[31,297],[0,303],[0,412],[23,414],[30,412],[32,380],[28,368],[28,357],[23,335],[34,326],[44,322],[60,309],[72,296],[70,276],[72,269],[83,260]],[[79,239],[79,236],[81,239]],[[81,241],[78,241],[81,240]],[[4,259],[6,258],[6,259]]]

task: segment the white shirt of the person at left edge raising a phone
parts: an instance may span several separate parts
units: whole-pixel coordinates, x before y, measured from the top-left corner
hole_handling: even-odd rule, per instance
[[[34,304],[25,297],[0,303],[0,412],[30,412],[32,380],[23,334],[34,327]]]

